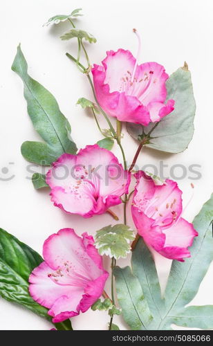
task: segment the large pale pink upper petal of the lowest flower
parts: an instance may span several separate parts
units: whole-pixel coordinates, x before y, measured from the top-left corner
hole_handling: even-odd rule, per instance
[[[50,235],[44,242],[43,255],[46,263],[53,269],[64,267],[66,264],[70,271],[89,280],[95,280],[102,275],[102,270],[86,253],[82,238],[78,237],[71,228],[64,228]]]

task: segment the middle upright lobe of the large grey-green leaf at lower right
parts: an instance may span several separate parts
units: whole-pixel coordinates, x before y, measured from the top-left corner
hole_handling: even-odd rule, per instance
[[[138,240],[132,252],[133,274],[138,277],[142,291],[154,316],[154,322],[160,322],[165,311],[165,301],[161,298],[158,273],[151,252],[143,242]]]

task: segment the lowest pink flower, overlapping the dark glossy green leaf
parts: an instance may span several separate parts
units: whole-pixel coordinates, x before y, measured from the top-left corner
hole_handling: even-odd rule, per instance
[[[85,312],[100,298],[109,276],[102,257],[93,246],[93,237],[82,238],[71,228],[50,235],[44,242],[44,262],[29,277],[32,298],[50,309],[53,322]]]

